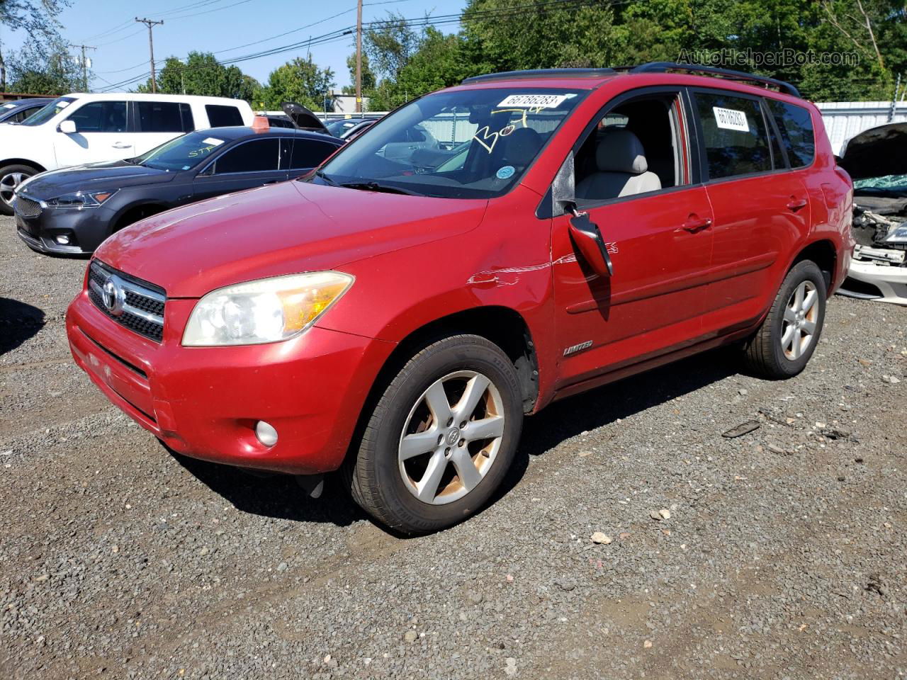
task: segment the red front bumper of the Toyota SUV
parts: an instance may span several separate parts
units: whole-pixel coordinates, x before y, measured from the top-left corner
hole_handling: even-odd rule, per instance
[[[83,291],[66,313],[76,364],[176,452],[293,474],[336,470],[394,345],[314,326],[282,343],[183,347],[195,302],[167,301],[158,344],[116,324]],[[259,420],[277,429],[274,446],[258,442]]]

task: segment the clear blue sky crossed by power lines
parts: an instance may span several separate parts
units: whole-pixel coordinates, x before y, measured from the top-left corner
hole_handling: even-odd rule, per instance
[[[363,22],[385,18],[388,11],[407,18],[425,13],[458,13],[465,0],[366,0]],[[220,61],[284,45],[303,43],[309,36],[330,34],[356,27],[356,0],[312,2],[311,0],[73,0],[58,15],[60,33],[70,44],[97,47],[86,54],[95,73],[92,89],[107,88],[142,76],[149,71],[148,29],[135,17],[163,19],[153,28],[154,59],[160,68],[168,56],[185,57],[190,51],[213,52]],[[456,24],[442,30],[456,30]],[[280,35],[279,34],[284,34]],[[0,41],[4,53],[18,49],[27,36],[4,29]],[[261,41],[261,42],[258,42]],[[255,43],[255,44],[252,44]],[[247,45],[247,46],[240,46]],[[346,57],[355,50],[355,34],[342,35],[311,46],[312,58],[335,73],[336,89],[350,84]],[[73,48],[78,53],[79,48]],[[296,56],[305,56],[305,44],[283,53],[260,56],[236,65],[259,82],[268,73]],[[134,89],[127,83],[118,90]]]

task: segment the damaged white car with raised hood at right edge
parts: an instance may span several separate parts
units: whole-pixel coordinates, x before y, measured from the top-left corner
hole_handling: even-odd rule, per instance
[[[838,292],[907,306],[907,122],[856,135],[839,165],[853,178],[857,245]]]

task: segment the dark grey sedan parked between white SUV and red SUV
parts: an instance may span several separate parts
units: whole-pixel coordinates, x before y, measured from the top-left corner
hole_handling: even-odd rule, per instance
[[[342,145],[288,128],[190,132],[132,159],[34,175],[15,191],[16,228],[39,252],[91,253],[161,210],[304,175]]]

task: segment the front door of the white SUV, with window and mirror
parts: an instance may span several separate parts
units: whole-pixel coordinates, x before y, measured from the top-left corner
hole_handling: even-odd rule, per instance
[[[75,131],[54,133],[57,165],[64,168],[102,160],[120,160],[135,155],[128,126],[128,106],[123,100],[85,102],[64,119]]]

